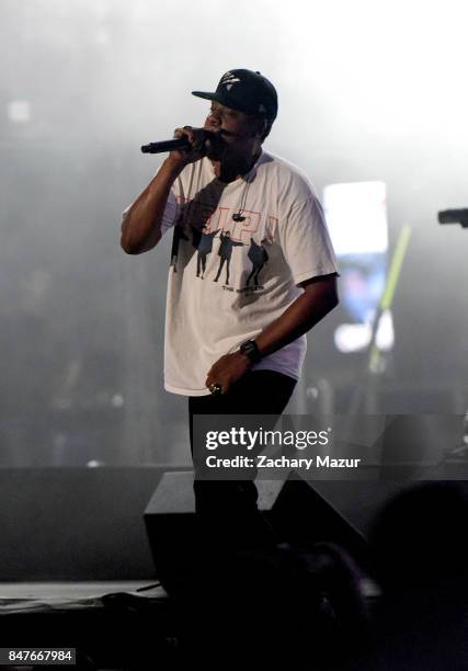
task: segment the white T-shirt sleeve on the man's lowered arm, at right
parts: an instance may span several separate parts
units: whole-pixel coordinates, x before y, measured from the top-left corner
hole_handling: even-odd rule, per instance
[[[339,273],[322,206],[316,196],[294,204],[278,221],[279,243],[296,284]]]

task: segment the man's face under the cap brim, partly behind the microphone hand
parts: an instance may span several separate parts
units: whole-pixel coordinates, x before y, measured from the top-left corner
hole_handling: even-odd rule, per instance
[[[205,121],[207,130],[218,132],[215,139],[206,143],[208,158],[222,160],[226,156],[250,158],[262,144],[263,122],[213,101]]]

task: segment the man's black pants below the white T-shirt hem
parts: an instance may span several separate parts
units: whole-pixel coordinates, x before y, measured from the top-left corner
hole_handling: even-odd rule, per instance
[[[276,414],[284,411],[296,380],[275,371],[250,371],[227,394],[189,398],[193,454],[194,414]],[[195,505],[206,538],[236,547],[263,546],[272,530],[260,515],[252,480],[197,480]]]

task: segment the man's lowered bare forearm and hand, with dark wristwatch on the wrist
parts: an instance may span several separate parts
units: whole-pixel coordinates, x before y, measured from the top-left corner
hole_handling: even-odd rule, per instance
[[[339,303],[334,273],[307,280],[299,286],[304,294],[255,338],[262,359],[307,333]],[[251,365],[249,357],[241,352],[226,354],[212,366],[206,386],[216,383],[226,393]]]

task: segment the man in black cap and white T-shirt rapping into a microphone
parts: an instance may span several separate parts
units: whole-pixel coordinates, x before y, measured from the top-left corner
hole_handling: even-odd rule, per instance
[[[320,203],[298,169],[262,149],[277,114],[273,84],[237,69],[216,91],[193,94],[210,101],[205,125],[175,130],[191,148],[172,151],[124,213],[121,242],[140,254],[175,226],[164,387],[189,397],[192,450],[194,414],[281,414],[299,377],[305,333],[338,304]],[[198,282],[191,229],[206,225],[220,235]],[[262,285],[252,292],[250,250],[265,240],[269,263],[254,263]],[[226,285],[217,282],[225,261]],[[240,546],[262,542],[256,498],[252,481],[195,480],[198,520]]]

